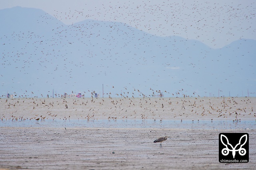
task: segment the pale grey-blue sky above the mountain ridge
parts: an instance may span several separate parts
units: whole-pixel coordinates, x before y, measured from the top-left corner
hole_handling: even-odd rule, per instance
[[[86,19],[122,22],[156,36],[180,36],[222,48],[256,40],[254,0],[0,0],[0,10],[38,8],[64,24]]]

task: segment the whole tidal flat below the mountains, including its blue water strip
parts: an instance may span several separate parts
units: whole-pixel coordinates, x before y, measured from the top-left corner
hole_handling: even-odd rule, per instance
[[[255,168],[254,98],[130,100],[2,98],[0,169]],[[221,132],[249,134],[249,162],[219,162]]]

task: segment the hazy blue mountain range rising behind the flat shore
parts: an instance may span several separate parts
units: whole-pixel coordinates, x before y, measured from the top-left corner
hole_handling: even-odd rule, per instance
[[[34,8],[4,9],[0,16],[1,95],[45,97],[54,89],[90,97],[92,91],[102,94],[104,84],[106,97],[159,91],[165,97],[247,96],[248,91],[256,96],[255,40],[211,49],[119,22],[84,20],[68,26]]]

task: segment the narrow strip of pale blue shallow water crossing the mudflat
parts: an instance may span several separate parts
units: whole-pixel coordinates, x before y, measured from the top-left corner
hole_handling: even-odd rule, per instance
[[[174,128],[174,129],[256,129],[256,121],[188,121],[188,120],[40,120],[0,121],[0,127],[56,128]]]

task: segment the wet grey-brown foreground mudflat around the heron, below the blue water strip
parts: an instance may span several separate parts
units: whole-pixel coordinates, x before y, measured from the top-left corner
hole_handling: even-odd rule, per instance
[[[220,163],[220,132],[248,132],[248,163]],[[162,143],[159,136],[171,136]],[[256,131],[177,128],[0,128],[6,169],[254,169]]]

